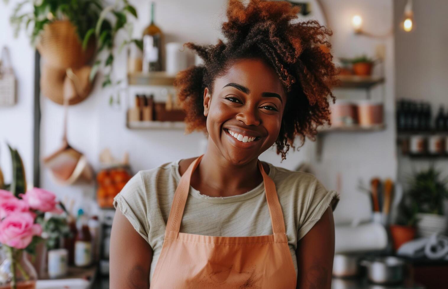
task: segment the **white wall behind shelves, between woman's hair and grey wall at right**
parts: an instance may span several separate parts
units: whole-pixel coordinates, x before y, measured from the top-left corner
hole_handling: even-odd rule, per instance
[[[368,38],[353,33],[350,21],[355,14],[363,18],[363,29],[370,34],[388,34],[392,29],[392,1],[325,0],[329,27],[333,30],[332,45],[335,57],[353,57],[360,54],[375,56],[377,46],[385,47],[385,84],[372,90],[372,98],[385,97],[386,130],[364,133],[332,133],[323,138],[323,155],[314,162],[316,175],[327,188],[337,188],[341,180],[341,201],[335,211],[336,221],[355,217],[370,217],[370,203],[366,194],[358,189],[358,181],[369,184],[372,177],[396,177],[394,147],[394,43],[393,36]],[[376,67],[375,73],[380,73]],[[335,91],[338,98],[365,98],[364,91]]]

